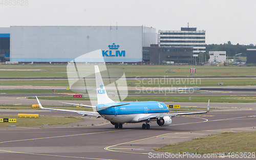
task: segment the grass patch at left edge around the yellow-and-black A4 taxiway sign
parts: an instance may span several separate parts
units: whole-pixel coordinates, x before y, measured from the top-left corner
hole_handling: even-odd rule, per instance
[[[83,121],[82,118],[76,117],[51,117],[39,116],[39,118],[18,118],[18,116],[0,115],[0,118],[16,118],[17,123],[0,123],[0,127],[15,126],[44,126],[44,125],[62,125]]]

